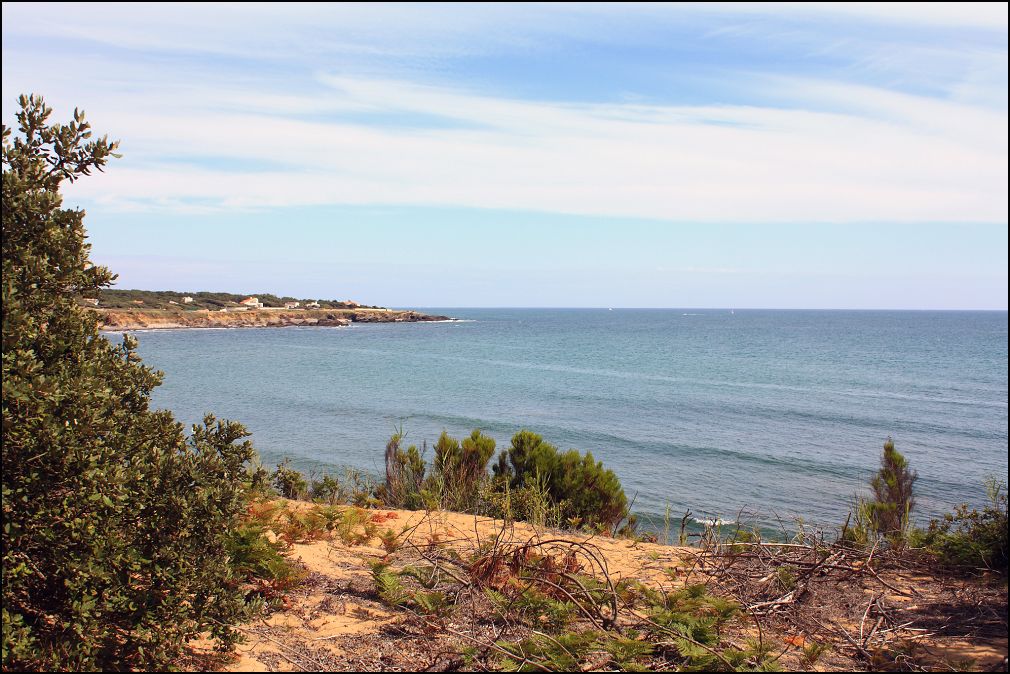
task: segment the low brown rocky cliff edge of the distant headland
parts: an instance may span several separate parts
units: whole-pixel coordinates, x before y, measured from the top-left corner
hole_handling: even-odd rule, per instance
[[[350,323],[414,323],[452,320],[419,311],[395,309],[258,309],[248,311],[171,311],[92,309],[103,330],[180,329],[193,327],[336,327]]]

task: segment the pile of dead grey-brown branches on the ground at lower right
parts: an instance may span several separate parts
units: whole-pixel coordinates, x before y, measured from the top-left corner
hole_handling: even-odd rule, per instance
[[[944,642],[1006,640],[1005,588],[945,578],[880,542],[856,548],[803,535],[790,543],[710,536],[691,557],[689,576],[738,601],[756,630],[784,636],[801,659],[812,645],[830,645],[853,668],[920,671],[971,666],[945,658]]]

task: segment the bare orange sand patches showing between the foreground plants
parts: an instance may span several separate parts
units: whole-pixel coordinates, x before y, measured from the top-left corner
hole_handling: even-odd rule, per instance
[[[292,501],[289,507],[309,505]],[[404,534],[404,540],[416,546],[437,543],[461,551],[473,551],[481,542],[503,534],[505,539],[515,543],[551,539],[585,542],[602,553],[607,571],[615,581],[637,578],[648,584],[670,587],[676,582],[672,579],[683,579],[691,567],[692,549],[561,535],[537,531],[521,522],[504,529],[501,521],[450,512],[382,509],[370,510],[369,513],[382,522],[380,531],[387,527],[395,532],[406,529],[409,533]],[[445,647],[444,640],[436,639],[435,635],[426,639],[424,635],[406,634],[398,628],[403,613],[379,600],[370,564],[387,559],[387,552],[378,539],[360,546],[346,546],[338,540],[295,544],[291,558],[304,565],[308,575],[289,594],[286,605],[261,620],[242,627],[246,641],[236,648],[234,654],[209,657],[206,645],[196,644],[194,660],[184,666],[249,672],[355,671],[404,669],[405,660],[411,663],[412,669],[444,669],[457,662],[452,660],[456,653]],[[886,590],[881,593],[880,587],[856,586],[850,588],[853,601],[866,601],[864,595],[877,592],[882,594],[884,600],[907,610],[909,615],[916,615],[928,610],[942,611],[944,603],[949,602],[951,596],[957,596],[956,587],[951,590],[945,585],[936,585],[934,578],[918,578],[911,573],[896,573],[889,576],[889,582],[896,588],[905,588],[906,593]],[[933,589],[907,591],[908,588],[927,586]],[[954,594],[951,595],[950,591]],[[853,631],[856,627],[848,625]],[[743,630],[741,638],[747,636],[746,628]],[[999,668],[1007,655],[1005,632],[1002,638],[995,639],[992,636],[979,639],[970,634],[966,632],[964,639],[953,635],[941,643],[922,646],[934,658],[937,670],[949,671],[951,663],[968,661],[974,661],[971,669],[975,671]],[[775,634],[772,637],[786,643],[797,639],[790,634]],[[444,649],[444,652],[439,649]],[[798,655],[799,651],[794,649],[781,659],[780,666],[786,670],[804,669]],[[814,669],[847,671],[855,664],[850,658],[829,652]]]

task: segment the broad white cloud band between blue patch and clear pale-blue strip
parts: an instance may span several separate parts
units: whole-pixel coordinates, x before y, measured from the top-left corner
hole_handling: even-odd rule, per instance
[[[322,79],[331,89],[301,102],[268,95],[258,104],[246,93],[246,112],[202,112],[216,103],[196,92],[183,106],[104,101],[90,116],[116,129],[130,159],[72,194],[134,208],[390,203],[713,221],[1007,218],[1006,115],[955,103],[784,82],[787,94],[850,109],[561,105]],[[292,107],[392,109],[465,125],[307,121],[289,116]],[[159,161],[170,155],[194,164]],[[205,157],[276,169],[201,168]]]

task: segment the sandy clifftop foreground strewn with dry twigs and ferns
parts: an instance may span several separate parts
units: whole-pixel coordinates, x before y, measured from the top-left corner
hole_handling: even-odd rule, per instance
[[[314,521],[305,514],[314,507],[278,511]],[[1005,585],[943,576],[880,549],[715,537],[673,548],[458,513],[338,510],[348,516],[332,529],[291,545],[308,578],[243,628],[230,669],[551,669],[566,649],[578,668],[676,668],[680,649],[653,636],[653,650],[637,657],[632,642],[651,619],[642,597],[689,585],[742,608],[708,647],[723,660],[699,647],[721,669],[742,653],[785,669],[838,671],[990,669],[1006,656]],[[377,587],[377,563],[399,583],[396,602]],[[573,645],[565,641],[573,634],[605,637]]]

